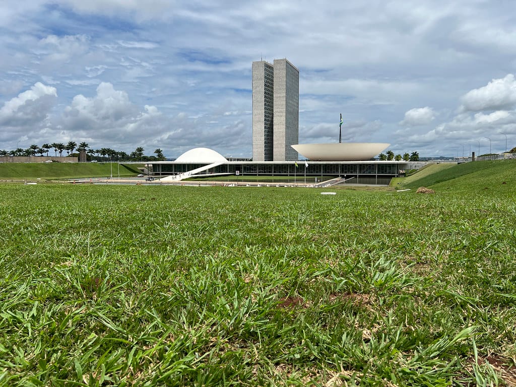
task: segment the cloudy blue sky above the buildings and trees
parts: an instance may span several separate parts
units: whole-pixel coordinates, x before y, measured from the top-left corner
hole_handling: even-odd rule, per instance
[[[342,4],[341,4],[342,3]],[[299,69],[299,143],[516,147],[513,0],[2,0],[0,150],[252,156],[251,66]]]

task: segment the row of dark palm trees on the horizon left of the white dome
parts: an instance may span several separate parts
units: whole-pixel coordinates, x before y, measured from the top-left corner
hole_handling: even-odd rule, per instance
[[[78,144],[74,141],[69,141],[67,144],[62,142],[53,142],[51,144],[45,143],[42,146],[32,144],[27,149],[17,148],[11,151],[0,150],[0,156],[36,156],[40,155],[49,156],[49,152],[54,151],[55,157],[64,157],[63,152],[67,152],[66,156],[78,157],[78,153],[74,153],[75,150],[78,152],[86,152],[87,161],[109,161],[109,160],[120,160],[120,161],[163,161],[165,155],[159,148],[154,150],[152,156],[144,155],[144,149],[142,147],[136,148],[131,153],[124,151],[116,151],[111,148],[92,149],[89,147],[87,142],[81,142]]]

